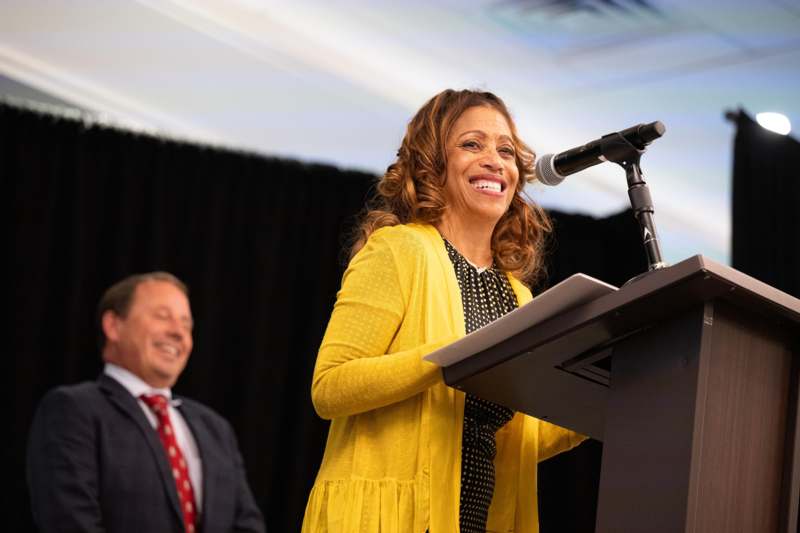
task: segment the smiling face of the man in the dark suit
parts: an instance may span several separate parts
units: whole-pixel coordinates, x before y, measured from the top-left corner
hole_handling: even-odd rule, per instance
[[[192,351],[189,299],[174,284],[148,280],[136,286],[125,317],[106,311],[104,358],[152,387],[168,388]]]

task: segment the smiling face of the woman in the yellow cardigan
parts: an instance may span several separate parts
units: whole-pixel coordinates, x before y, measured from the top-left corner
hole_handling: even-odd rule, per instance
[[[447,138],[444,224],[492,228],[508,209],[519,181],[506,118],[488,106],[470,107]]]

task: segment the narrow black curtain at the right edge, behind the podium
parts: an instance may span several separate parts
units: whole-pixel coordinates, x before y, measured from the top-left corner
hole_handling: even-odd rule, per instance
[[[732,266],[800,298],[800,142],[734,118]]]

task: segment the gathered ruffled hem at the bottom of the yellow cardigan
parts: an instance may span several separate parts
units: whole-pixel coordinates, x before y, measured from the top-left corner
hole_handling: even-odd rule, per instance
[[[424,533],[427,483],[394,479],[317,481],[302,533]]]

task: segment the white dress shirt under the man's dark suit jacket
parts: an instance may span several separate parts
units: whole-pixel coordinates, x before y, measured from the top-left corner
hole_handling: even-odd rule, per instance
[[[175,440],[178,441],[178,446],[180,446],[181,451],[183,452],[183,457],[186,459],[186,463],[189,468],[189,479],[192,481],[192,490],[194,491],[194,497],[197,500],[195,502],[196,507],[198,512],[201,511],[203,509],[203,462],[200,459],[200,452],[197,449],[197,442],[194,440],[194,436],[189,429],[189,425],[186,423],[186,420],[184,420],[180,411],[175,409],[175,407],[181,404],[181,401],[172,399],[172,391],[170,389],[156,389],[151,387],[142,381],[139,376],[113,363],[106,363],[103,372],[107,376],[118,381],[120,385],[125,387],[128,392],[130,392],[133,397],[136,398],[136,400],[139,402],[139,407],[142,408],[142,412],[144,412],[147,420],[150,421],[150,425],[153,426],[153,429],[158,428],[158,419],[153,411],[147,406],[147,404],[144,403],[141,398],[139,398],[139,396],[142,394],[161,394],[162,396],[167,397],[169,419],[172,422],[172,428],[175,430]]]

